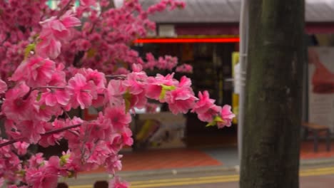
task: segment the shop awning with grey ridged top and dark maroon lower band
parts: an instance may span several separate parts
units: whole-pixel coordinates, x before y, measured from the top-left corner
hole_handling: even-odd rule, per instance
[[[159,0],[141,0],[148,7]],[[151,16],[158,24],[173,24],[178,35],[238,34],[241,0],[183,0],[186,9]],[[334,33],[334,0],[305,0],[306,31]]]

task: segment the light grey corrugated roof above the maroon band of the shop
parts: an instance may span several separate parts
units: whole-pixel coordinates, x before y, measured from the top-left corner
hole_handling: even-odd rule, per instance
[[[159,0],[141,0],[144,8]],[[151,16],[157,23],[236,23],[241,0],[183,0],[186,9],[164,11]],[[306,0],[308,22],[334,22],[334,0]]]

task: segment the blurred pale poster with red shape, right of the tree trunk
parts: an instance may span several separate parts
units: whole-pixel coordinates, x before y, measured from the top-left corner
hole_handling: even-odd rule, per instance
[[[334,48],[308,48],[308,121],[334,131]]]

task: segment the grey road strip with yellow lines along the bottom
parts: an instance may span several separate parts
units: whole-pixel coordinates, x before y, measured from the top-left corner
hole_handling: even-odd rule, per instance
[[[331,188],[334,184],[334,166],[317,166],[300,169],[300,188]],[[79,178],[80,179],[80,178]],[[78,180],[79,180],[78,179]],[[91,178],[90,178],[91,179]],[[93,178],[94,179],[94,178]],[[101,179],[101,177],[95,177]],[[237,188],[239,175],[235,171],[191,172],[183,174],[161,174],[146,177],[124,177],[131,183],[131,188]],[[71,182],[71,188],[93,187],[93,182]],[[88,180],[88,179],[87,179]],[[92,179],[91,179],[92,180]],[[91,181],[90,180],[90,181]],[[101,179],[102,180],[102,179]],[[107,179],[106,179],[107,180]]]

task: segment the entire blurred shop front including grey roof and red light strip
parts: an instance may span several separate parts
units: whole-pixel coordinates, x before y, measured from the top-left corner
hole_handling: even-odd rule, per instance
[[[142,4],[148,7],[157,1],[142,0]],[[233,105],[233,111],[238,113],[238,88],[233,78],[234,69],[238,67],[241,0],[185,2],[185,9],[151,16],[157,23],[156,33],[136,41],[135,48],[141,54],[171,55],[178,57],[180,64],[191,64],[193,73],[188,77],[193,80],[193,90],[196,93],[208,90],[218,105]],[[334,1],[306,0],[305,9],[305,33],[334,33]],[[308,116],[307,109],[303,109],[304,116]],[[234,120],[232,127],[222,130],[205,127],[196,115],[189,113],[186,115],[186,144],[188,147],[236,145],[237,126]]]

